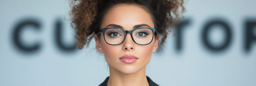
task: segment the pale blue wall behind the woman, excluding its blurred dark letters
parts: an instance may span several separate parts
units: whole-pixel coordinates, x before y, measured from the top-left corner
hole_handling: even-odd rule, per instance
[[[167,37],[164,53],[153,53],[146,75],[161,86],[255,86],[256,40],[245,51],[245,23],[256,22],[255,0],[186,0],[182,48]],[[1,0],[0,3],[0,86],[97,86],[109,76],[104,55],[89,48],[65,51],[57,46],[56,23],[60,20],[64,46],[74,43],[74,32],[67,15],[66,0]],[[214,52],[205,47],[202,30],[219,19],[229,25],[231,42]],[[35,20],[40,29],[26,26],[20,38],[25,46],[40,44],[38,51],[24,52],[14,46],[14,28],[25,20]],[[213,44],[221,44],[225,33],[214,26]],[[256,25],[252,32],[256,37]]]

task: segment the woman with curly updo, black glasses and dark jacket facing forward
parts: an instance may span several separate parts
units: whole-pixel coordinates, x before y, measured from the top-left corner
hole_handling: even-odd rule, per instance
[[[94,38],[109,65],[110,76],[100,86],[158,86],[146,76],[146,65],[180,21],[182,4],[183,0],[71,1],[77,46],[82,49]]]

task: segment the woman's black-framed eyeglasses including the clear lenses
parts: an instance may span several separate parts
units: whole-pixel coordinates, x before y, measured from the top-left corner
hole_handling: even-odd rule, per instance
[[[140,27],[133,30],[124,30],[121,28],[110,27],[103,28],[100,30],[100,32],[103,33],[104,40],[109,45],[122,44],[127,33],[131,33],[132,40],[136,44],[147,45],[152,42],[156,29],[149,27]],[[100,34],[100,32],[98,34]]]

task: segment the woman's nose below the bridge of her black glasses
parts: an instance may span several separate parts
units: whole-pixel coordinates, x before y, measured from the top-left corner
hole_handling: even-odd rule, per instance
[[[134,42],[132,40],[132,36],[128,33],[123,42],[123,50],[124,51],[133,51],[135,49]]]

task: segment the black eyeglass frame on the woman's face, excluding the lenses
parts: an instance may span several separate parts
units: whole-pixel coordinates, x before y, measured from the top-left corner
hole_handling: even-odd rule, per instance
[[[105,42],[106,42],[106,39],[105,39],[105,31],[106,31],[107,29],[113,29],[113,28],[115,28],[115,29],[121,29],[121,30],[124,31],[124,34],[125,34],[125,35],[124,35],[124,39],[123,39],[123,41],[122,41],[121,43],[119,43],[119,44],[122,44],[122,43],[124,42],[124,40],[125,40],[125,38],[126,38],[126,35],[127,35],[128,33],[131,34],[132,40],[133,40],[133,42],[135,42],[135,40],[133,39],[132,33],[133,33],[134,30],[141,29],[141,28],[151,29],[151,30],[153,31],[153,37],[152,37],[152,39],[151,39],[151,41],[150,41],[150,43],[151,43],[151,42],[153,41],[153,38],[154,38],[155,32],[156,32],[156,29],[155,29],[155,28],[150,28],[150,27],[139,27],[139,28],[135,28],[135,29],[133,29],[133,30],[124,30],[124,29],[122,29],[122,28],[109,27],[109,28],[103,28],[103,29],[101,29],[98,34],[100,34],[100,33],[102,32],[102,33],[103,33],[104,40],[105,40]],[[96,35],[98,35],[98,34],[96,34]],[[157,32],[156,32],[156,34],[157,34]],[[106,43],[109,44],[108,42],[106,42]],[[135,43],[138,44],[137,42],[135,42]],[[150,44],[150,43],[147,43],[147,44]],[[115,46],[115,45],[119,45],[119,44],[109,44],[109,45]],[[147,45],[147,44],[139,44],[139,45]]]

